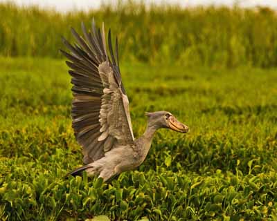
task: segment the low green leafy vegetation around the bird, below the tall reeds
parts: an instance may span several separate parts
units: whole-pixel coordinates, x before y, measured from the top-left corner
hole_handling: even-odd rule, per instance
[[[0,219],[277,220],[277,70],[123,63],[134,135],[162,129],[145,162],[109,183],[64,175],[82,164],[64,61],[0,57]]]

